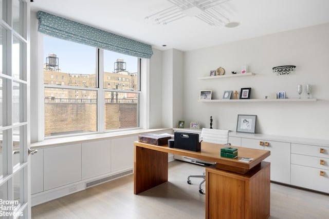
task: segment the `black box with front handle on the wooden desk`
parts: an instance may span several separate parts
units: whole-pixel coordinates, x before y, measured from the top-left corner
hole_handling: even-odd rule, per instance
[[[189,150],[189,151],[200,151],[201,144],[199,143],[199,134],[186,133],[186,132],[175,132],[175,148]]]

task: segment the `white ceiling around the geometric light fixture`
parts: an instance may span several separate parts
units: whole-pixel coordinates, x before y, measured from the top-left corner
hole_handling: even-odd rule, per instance
[[[208,0],[211,1],[214,0]],[[34,0],[31,10],[63,16],[156,49],[181,51],[329,23],[328,0],[230,0],[215,6],[230,22],[240,23],[234,28],[211,26],[195,16],[185,16],[166,25],[145,19],[172,6],[168,0]]]

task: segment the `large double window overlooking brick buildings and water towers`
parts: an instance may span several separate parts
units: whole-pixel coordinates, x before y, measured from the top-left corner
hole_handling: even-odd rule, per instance
[[[44,35],[45,137],[139,127],[139,62]]]

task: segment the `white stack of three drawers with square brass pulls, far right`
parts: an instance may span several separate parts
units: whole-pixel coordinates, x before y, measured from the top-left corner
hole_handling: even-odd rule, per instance
[[[291,144],[291,185],[329,193],[329,147]]]

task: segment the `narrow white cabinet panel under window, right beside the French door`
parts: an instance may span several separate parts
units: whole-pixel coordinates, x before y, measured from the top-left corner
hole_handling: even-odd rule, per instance
[[[43,149],[30,156],[31,161],[31,194],[43,191]]]

